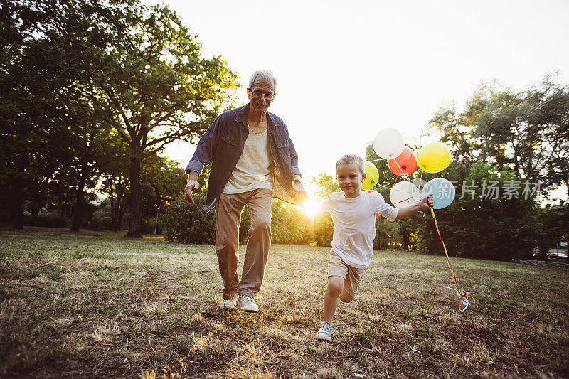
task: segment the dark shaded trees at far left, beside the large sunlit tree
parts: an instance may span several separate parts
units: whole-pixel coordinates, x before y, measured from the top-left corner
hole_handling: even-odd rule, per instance
[[[50,192],[65,187],[74,188],[63,196],[75,203],[72,229],[83,219],[85,186],[96,181],[92,161],[104,127],[94,117],[89,73],[94,52],[110,41],[103,25],[117,14],[98,1],[77,0],[12,1],[0,12],[6,43],[0,58],[0,176],[12,178],[17,219],[24,196],[37,214]]]

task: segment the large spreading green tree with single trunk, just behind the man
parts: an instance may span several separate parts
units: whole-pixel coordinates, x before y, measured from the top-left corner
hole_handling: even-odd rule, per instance
[[[140,236],[141,163],[170,142],[196,142],[230,100],[236,77],[201,46],[167,6],[133,4],[119,43],[102,51],[93,74],[105,121],[129,146],[129,232]],[[113,80],[109,80],[113,78]]]

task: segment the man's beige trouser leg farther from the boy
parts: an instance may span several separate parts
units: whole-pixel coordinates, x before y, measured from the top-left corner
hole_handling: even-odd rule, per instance
[[[216,254],[219,272],[223,279],[223,299],[235,299],[238,295],[239,275],[239,224],[245,203],[241,194],[221,194],[217,204]]]

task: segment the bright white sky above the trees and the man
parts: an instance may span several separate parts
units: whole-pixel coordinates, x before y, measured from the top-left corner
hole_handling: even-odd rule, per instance
[[[253,71],[275,73],[270,112],[287,123],[305,178],[363,156],[385,127],[418,139],[440,105],[462,107],[482,80],[523,90],[559,71],[569,82],[566,0],[164,2],[206,57],[238,73],[238,104]],[[166,156],[185,166],[193,150]]]

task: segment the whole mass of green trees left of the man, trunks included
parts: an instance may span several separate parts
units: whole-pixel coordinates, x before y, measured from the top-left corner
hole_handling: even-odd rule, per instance
[[[119,172],[124,179],[124,165],[107,159],[118,154],[129,178],[119,191],[129,195],[127,235],[139,237],[144,159],[196,142],[238,86],[174,11],[137,0],[11,1],[0,41],[0,177],[10,178],[4,206],[18,227],[28,202],[37,213],[55,191],[78,229],[100,180],[110,189]]]

